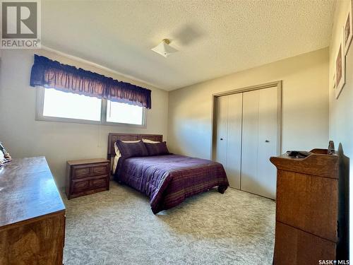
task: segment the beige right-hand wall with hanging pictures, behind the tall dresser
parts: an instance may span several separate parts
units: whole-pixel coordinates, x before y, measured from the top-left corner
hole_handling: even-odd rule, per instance
[[[335,55],[342,36],[342,26],[349,8],[349,1],[337,1],[333,32],[330,43],[330,139],[342,143],[343,152],[350,158],[350,176],[353,175],[353,42],[346,57],[346,84],[342,89],[340,97],[335,99],[333,90],[333,75],[335,74]],[[352,194],[352,180],[349,191]],[[352,196],[350,196],[350,212],[353,210]],[[351,218],[352,219],[352,218]],[[351,225],[350,238],[353,236]],[[351,240],[352,242],[352,240]],[[352,244],[351,244],[352,246]],[[351,256],[353,248],[350,250]]]

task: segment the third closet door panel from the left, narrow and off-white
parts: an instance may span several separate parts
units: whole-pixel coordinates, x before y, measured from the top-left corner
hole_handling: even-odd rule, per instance
[[[243,95],[241,189],[258,192],[258,90]]]

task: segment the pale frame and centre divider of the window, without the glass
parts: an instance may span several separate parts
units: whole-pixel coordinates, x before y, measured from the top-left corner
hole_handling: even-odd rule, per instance
[[[107,125],[107,126],[128,126],[134,128],[147,127],[147,112],[146,108],[143,107],[142,112],[142,124],[128,124],[120,122],[107,122],[107,99],[102,98],[101,110],[100,110],[100,121],[91,121],[89,119],[71,119],[71,118],[61,118],[61,117],[49,117],[43,115],[44,110],[44,87],[36,87],[36,110],[35,110],[35,120],[44,122],[67,122],[67,123],[78,123],[78,124],[95,124],[95,125]]]

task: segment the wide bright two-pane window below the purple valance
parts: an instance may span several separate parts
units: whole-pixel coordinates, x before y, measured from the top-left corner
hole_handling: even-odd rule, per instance
[[[145,107],[37,88],[36,119],[52,122],[145,126]]]

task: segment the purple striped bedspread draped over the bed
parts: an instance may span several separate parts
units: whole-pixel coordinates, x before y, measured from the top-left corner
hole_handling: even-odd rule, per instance
[[[220,163],[184,155],[119,159],[116,180],[150,197],[153,213],[177,206],[187,197],[229,186]]]

